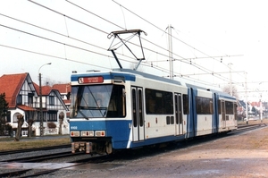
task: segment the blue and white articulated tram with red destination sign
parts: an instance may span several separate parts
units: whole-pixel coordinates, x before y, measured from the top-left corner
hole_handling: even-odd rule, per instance
[[[128,69],[71,75],[71,151],[107,153],[237,128],[236,99]]]

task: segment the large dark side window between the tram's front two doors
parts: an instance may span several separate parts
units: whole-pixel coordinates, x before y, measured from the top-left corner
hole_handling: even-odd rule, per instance
[[[146,89],[147,114],[173,114],[172,92]]]

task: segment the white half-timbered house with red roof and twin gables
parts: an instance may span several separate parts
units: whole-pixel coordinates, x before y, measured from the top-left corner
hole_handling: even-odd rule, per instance
[[[42,95],[42,107],[44,108],[44,134],[69,133],[69,123],[66,121],[68,108],[56,89],[46,89]],[[43,88],[42,88],[43,89]],[[40,103],[38,85],[30,78],[29,73],[4,74],[0,77],[0,93],[5,93],[5,100],[9,104],[6,122],[10,123],[13,131],[17,130],[17,115],[24,116],[21,136],[29,135],[29,122],[34,121],[31,126],[33,135],[40,135]],[[63,119],[62,119],[63,118]],[[54,130],[49,130],[47,123],[54,123]],[[61,126],[61,128],[60,128]]]

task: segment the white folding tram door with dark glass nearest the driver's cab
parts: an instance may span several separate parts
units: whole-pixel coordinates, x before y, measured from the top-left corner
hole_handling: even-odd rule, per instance
[[[132,87],[132,139],[133,141],[144,140],[144,106],[142,88]]]

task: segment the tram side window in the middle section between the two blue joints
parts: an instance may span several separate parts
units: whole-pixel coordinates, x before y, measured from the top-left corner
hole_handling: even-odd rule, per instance
[[[197,114],[214,114],[213,99],[207,97],[196,97]]]

